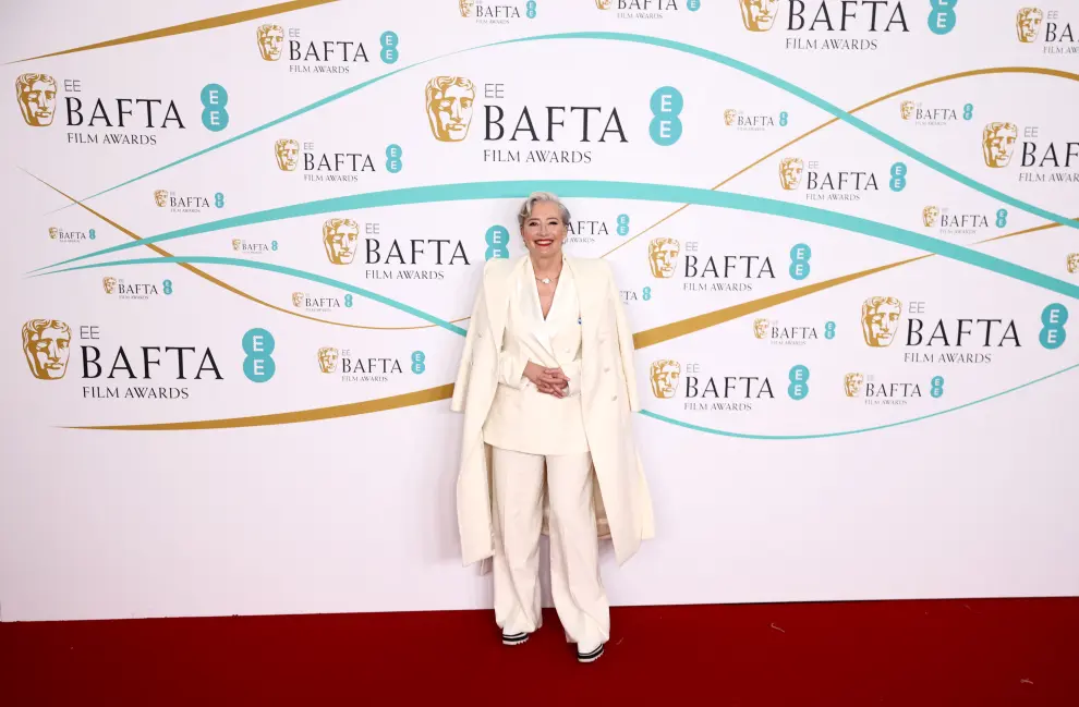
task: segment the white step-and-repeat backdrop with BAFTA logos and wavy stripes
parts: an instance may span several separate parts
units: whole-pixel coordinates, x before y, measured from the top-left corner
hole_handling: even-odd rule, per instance
[[[1079,590],[1075,3],[3,15],[3,620],[489,606],[449,397],[541,190],[635,332],[615,604]]]

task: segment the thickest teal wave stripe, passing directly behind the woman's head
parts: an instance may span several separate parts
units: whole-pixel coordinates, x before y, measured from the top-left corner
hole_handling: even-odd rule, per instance
[[[149,245],[163,241],[184,239],[202,233],[213,233],[226,229],[265,223],[282,219],[299,218],[327,214],[331,211],[348,211],[385,206],[401,206],[408,204],[431,204],[437,202],[461,202],[493,198],[523,198],[532,191],[542,190],[555,192],[563,197],[592,197],[633,199],[644,202],[669,202],[676,204],[694,204],[729,208],[756,214],[767,214],[795,219],[809,223],[820,223],[832,228],[861,233],[871,237],[899,243],[929,253],[935,253],[953,260],[983,268],[1028,284],[1033,284],[1068,297],[1079,298],[1079,285],[1059,280],[1036,270],[1025,268],[1015,263],[997,258],[972,248],[949,243],[906,229],[886,223],[880,223],[857,216],[829,211],[803,204],[792,204],[763,196],[734,194],[729,192],[713,192],[691,186],[675,186],[670,184],[642,184],[637,182],[603,182],[586,180],[528,180],[504,182],[473,182],[466,184],[438,184],[432,186],[413,186],[385,192],[371,192],[351,196],[338,196],[282,206],[264,211],[255,211],[234,216],[218,221],[201,223],[159,235],[151,235],[141,241],[129,241],[93,253],[80,255],[60,263],[38,268],[40,272],[52,268],[70,265],[87,258],[110,253],[119,253],[128,248]]]

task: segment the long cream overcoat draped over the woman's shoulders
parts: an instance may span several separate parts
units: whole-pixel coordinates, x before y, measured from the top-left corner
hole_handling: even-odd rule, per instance
[[[528,255],[521,257],[529,257]],[[465,565],[494,553],[490,446],[483,426],[498,387],[498,354],[510,287],[521,259],[492,258],[483,269],[450,410],[464,412],[457,479],[457,517]],[[596,522],[625,564],[654,537],[652,498],[633,438],[640,400],[633,373],[633,334],[610,266],[596,258],[566,257],[581,307],[581,404],[592,452]],[[544,499],[543,533],[549,514]]]

